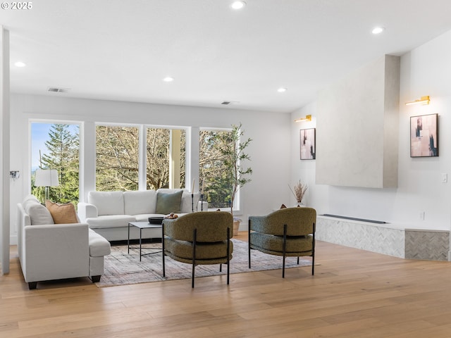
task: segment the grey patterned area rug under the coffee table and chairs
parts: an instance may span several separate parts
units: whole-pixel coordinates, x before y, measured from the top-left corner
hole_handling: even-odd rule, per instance
[[[252,271],[274,270],[282,268],[282,257],[261,253],[257,250],[251,251],[252,268],[249,269],[247,258],[247,242],[238,239],[233,241],[233,258],[230,261],[230,273],[249,273]],[[135,247],[136,244],[133,245]],[[143,244],[146,248],[161,248],[161,243]],[[152,252],[142,249],[143,253]],[[191,278],[192,266],[180,263],[166,256],[166,278],[163,277],[161,252],[142,256],[140,261],[139,249],[130,249],[127,253],[127,245],[111,245],[111,254],[105,256],[104,275],[101,276],[97,287],[111,287],[116,285],[138,284],[146,282],[157,282],[162,280],[178,280]],[[285,268],[299,268],[299,266],[311,265],[311,257],[299,258],[297,265],[296,257],[285,259]],[[219,272],[219,265],[197,265],[196,277],[213,275],[225,275],[227,265],[223,265],[223,271]]]

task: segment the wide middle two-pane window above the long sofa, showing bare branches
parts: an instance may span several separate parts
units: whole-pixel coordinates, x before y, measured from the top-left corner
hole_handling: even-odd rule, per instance
[[[146,168],[146,189],[185,187],[185,130],[147,127],[144,159],[142,127],[97,125],[97,190],[139,189],[140,168]]]

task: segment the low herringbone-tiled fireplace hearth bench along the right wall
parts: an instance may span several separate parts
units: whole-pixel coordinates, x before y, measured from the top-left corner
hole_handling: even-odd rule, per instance
[[[407,259],[448,261],[449,230],[411,229],[318,215],[316,239]]]

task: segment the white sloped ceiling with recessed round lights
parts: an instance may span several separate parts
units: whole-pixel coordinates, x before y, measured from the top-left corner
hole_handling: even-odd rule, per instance
[[[241,11],[231,3],[39,0],[0,9],[11,92],[286,113],[352,70],[451,30],[450,0],[246,0]],[[376,25],[381,35],[371,34]]]

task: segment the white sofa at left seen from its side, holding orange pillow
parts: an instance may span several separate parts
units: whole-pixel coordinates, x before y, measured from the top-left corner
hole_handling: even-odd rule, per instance
[[[18,223],[18,255],[30,289],[44,280],[100,280],[104,256],[109,255],[111,246],[87,223],[54,224],[47,208],[32,195],[18,204]]]

